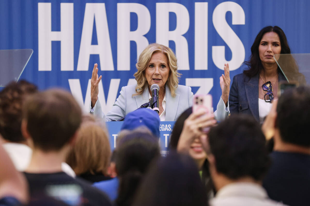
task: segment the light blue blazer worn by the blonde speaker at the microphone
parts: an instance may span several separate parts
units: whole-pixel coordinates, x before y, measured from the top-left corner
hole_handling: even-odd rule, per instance
[[[136,85],[123,86],[120,95],[113,104],[111,111],[104,115],[101,110],[99,99],[93,109],[96,117],[106,121],[118,120],[126,116],[129,112],[138,109],[142,104],[149,102],[148,87],[141,95],[135,94]],[[178,85],[175,91],[175,97],[171,96],[169,87],[166,86],[166,121],[175,121],[178,117],[193,104],[193,92],[191,87]]]

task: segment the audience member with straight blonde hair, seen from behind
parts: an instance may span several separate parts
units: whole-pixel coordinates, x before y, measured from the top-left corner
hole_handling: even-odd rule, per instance
[[[82,123],[66,162],[75,174],[91,183],[111,179],[107,174],[111,157],[108,133],[94,121]]]

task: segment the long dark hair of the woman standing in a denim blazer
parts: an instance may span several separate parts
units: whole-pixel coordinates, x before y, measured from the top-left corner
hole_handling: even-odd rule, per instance
[[[289,44],[287,43],[285,33],[280,27],[268,26],[268,27],[262,28],[262,30],[260,30],[258,35],[256,36],[254,43],[251,47],[250,60],[243,62],[249,67],[249,69],[243,71],[243,74],[245,74],[248,77],[254,77],[256,74],[260,72],[261,69],[263,69],[262,62],[259,58],[258,47],[264,34],[268,32],[275,32],[278,34],[280,38],[280,44],[281,44],[281,54],[290,54],[290,47],[289,47]]]

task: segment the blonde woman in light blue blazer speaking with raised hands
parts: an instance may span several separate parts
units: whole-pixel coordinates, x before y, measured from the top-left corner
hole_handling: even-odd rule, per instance
[[[177,59],[173,51],[162,44],[149,44],[140,54],[134,74],[137,84],[122,87],[111,111],[105,115],[98,99],[99,82],[97,64],[94,65],[91,77],[90,112],[106,121],[118,120],[129,112],[148,103],[151,99],[150,87],[159,86],[159,117],[161,121],[175,121],[193,104],[191,87],[179,85]],[[224,104],[224,103],[223,103]]]

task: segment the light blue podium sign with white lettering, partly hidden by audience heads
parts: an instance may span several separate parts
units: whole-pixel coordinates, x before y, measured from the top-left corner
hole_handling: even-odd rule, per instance
[[[111,150],[113,151],[116,148],[116,139],[118,136],[118,133],[121,131],[123,122],[106,122],[106,127],[109,132],[109,140],[110,140],[110,146]],[[165,157],[168,153],[168,147],[170,142],[170,134],[172,132],[173,126],[175,122],[174,121],[162,121],[160,122],[159,126],[159,144],[161,148],[161,155]]]

